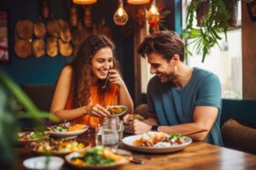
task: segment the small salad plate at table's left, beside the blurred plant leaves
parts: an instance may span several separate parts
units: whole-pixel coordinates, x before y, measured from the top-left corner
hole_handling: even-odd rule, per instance
[[[18,141],[20,144],[26,144],[26,143],[35,142],[38,140],[43,140],[48,138],[49,138],[49,134],[44,132],[33,131],[33,132],[18,133]]]

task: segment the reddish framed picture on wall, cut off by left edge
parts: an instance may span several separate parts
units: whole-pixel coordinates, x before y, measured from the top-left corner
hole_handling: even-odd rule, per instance
[[[8,12],[0,9],[0,61],[9,61]]]

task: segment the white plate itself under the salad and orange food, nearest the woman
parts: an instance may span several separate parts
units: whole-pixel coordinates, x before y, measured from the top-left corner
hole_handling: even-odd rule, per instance
[[[70,132],[49,132],[49,135],[55,138],[68,138],[73,139],[76,138],[79,134],[84,133],[89,127],[83,125],[84,128],[77,131],[70,131]]]

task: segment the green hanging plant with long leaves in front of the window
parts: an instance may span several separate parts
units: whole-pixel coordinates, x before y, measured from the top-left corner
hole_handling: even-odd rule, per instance
[[[207,2],[204,0],[191,1],[186,18],[187,26],[182,32],[182,37],[185,41],[186,54],[191,55],[188,46],[193,45],[197,54],[202,52],[201,62],[204,62],[213,46],[218,45],[220,48],[218,41],[221,40],[222,37],[220,37],[219,34],[224,33],[225,39],[227,40],[226,34],[229,27],[236,26],[234,22],[230,25],[230,19],[232,19],[232,14],[237,10],[237,8],[233,8],[234,5],[237,7],[237,1],[238,0],[214,0]],[[210,6],[207,12],[199,12],[200,8],[203,6],[202,3],[209,3]],[[195,14],[205,14],[200,17],[201,23],[199,23],[198,26],[193,25],[194,20],[196,19]],[[188,43],[190,38],[192,38],[192,40]]]

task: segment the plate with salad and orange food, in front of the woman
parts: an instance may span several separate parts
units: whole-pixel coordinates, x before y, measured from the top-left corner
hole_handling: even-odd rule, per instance
[[[79,134],[84,133],[89,127],[83,124],[71,124],[65,122],[49,128],[49,135],[55,138],[76,138]]]

